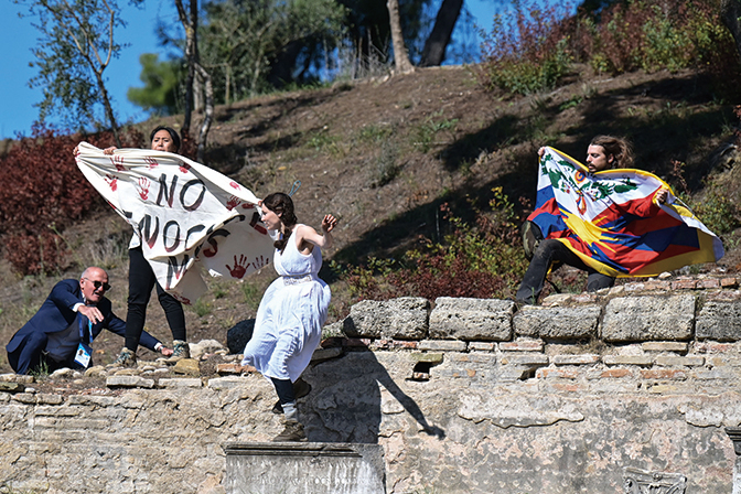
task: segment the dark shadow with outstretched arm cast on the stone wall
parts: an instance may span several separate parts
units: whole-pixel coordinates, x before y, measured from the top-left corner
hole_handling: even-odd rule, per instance
[[[398,421],[386,423],[386,428],[407,430],[414,418],[420,432],[438,439],[445,437],[444,430],[428,423],[419,406],[396,384],[374,352],[358,353],[353,366],[336,358],[312,364],[303,373],[302,377],[313,386],[313,391],[299,404],[309,441],[378,443],[384,412],[389,421]],[[379,384],[398,404],[382,400]]]

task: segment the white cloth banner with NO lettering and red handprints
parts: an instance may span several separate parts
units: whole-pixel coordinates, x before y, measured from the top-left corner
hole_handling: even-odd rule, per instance
[[[275,248],[257,197],[232,179],[179,154],[80,142],[77,167],[132,227],[157,280],[184,303],[202,294],[201,269],[240,280],[270,262]]]

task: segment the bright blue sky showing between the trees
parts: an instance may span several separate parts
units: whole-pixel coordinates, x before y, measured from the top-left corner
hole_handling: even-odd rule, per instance
[[[491,28],[496,6],[502,0],[465,0],[464,6],[475,18],[475,22],[483,28]],[[127,4],[125,0],[120,4]],[[29,18],[20,19],[19,12],[26,12],[23,6],[17,6],[9,0],[0,0],[0,139],[13,138],[15,132],[30,133],[31,124],[39,116],[34,106],[42,99],[41,89],[31,89],[29,80],[36,75],[36,69],[29,64],[34,61],[31,49],[35,46],[37,31],[31,25]],[[118,111],[118,120],[140,121],[147,115],[139,107],[126,99],[126,92],[131,86],[141,86],[139,73],[139,55],[142,53],[158,53],[160,60],[165,57],[167,50],[158,46],[154,28],[158,20],[168,24],[176,24],[178,18],[172,0],[147,0],[141,8],[127,4],[122,13],[127,22],[125,29],[116,32],[117,41],[128,43],[121,51],[120,57],[114,60],[106,68],[106,87],[114,99]],[[460,22],[459,22],[460,25]],[[455,33],[454,36],[471,37],[471,33]]]

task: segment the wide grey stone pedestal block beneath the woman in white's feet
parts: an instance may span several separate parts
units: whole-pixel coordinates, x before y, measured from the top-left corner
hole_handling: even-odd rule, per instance
[[[384,494],[380,444],[229,443],[224,485],[230,494]]]

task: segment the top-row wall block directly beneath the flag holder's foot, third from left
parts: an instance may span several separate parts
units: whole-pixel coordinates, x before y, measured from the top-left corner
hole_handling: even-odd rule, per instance
[[[597,333],[602,309],[584,307],[524,307],[514,316],[515,334],[551,340],[581,340]]]

